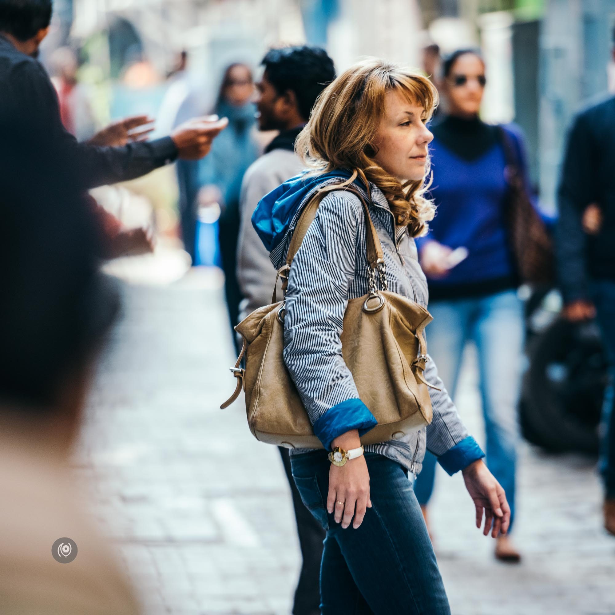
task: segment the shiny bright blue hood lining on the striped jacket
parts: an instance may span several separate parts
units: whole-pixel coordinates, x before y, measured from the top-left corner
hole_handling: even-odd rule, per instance
[[[311,192],[327,180],[338,177],[341,181],[346,181],[352,177],[352,173],[346,169],[316,176],[305,177],[305,175],[305,172],[300,173],[285,181],[256,205],[252,215],[252,226],[269,252],[282,242],[301,205]]]

